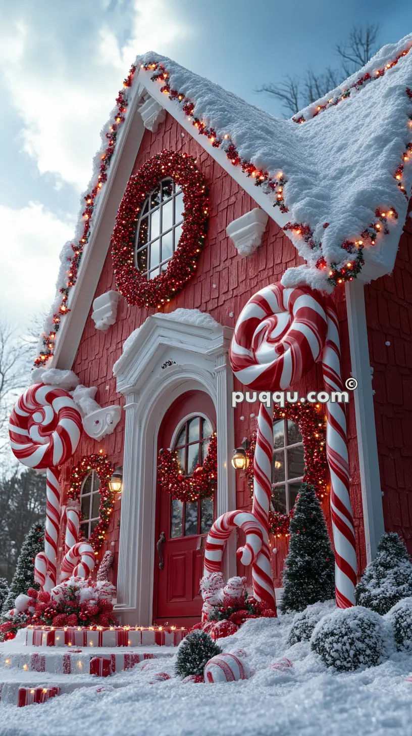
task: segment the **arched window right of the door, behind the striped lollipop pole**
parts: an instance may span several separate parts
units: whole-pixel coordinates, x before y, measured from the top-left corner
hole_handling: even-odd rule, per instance
[[[273,511],[288,514],[305,473],[303,438],[298,425],[288,419],[273,423],[273,436],[271,505]]]

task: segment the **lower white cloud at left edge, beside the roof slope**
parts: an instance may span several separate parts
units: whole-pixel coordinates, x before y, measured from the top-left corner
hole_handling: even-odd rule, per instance
[[[38,202],[21,209],[0,205],[0,315],[10,324],[48,309],[54,300],[63,243],[74,222],[59,219]]]

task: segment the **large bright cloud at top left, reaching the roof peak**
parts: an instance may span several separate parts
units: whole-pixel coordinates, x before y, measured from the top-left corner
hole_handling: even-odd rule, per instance
[[[21,150],[40,174],[54,175],[57,188],[65,182],[82,191],[99,131],[135,56],[151,48],[172,54],[190,28],[168,0],[135,0],[114,10],[94,5],[93,13],[87,4],[74,5],[75,32],[69,15],[51,7],[46,18],[41,4],[27,4],[22,21],[11,6],[0,28],[0,68],[21,120]]]

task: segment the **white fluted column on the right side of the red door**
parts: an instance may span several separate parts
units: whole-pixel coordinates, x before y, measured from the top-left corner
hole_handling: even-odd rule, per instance
[[[218,434],[218,498],[217,515],[236,508],[235,470],[230,458],[235,442],[233,426],[232,390],[233,375],[228,366],[229,355],[223,350],[216,355],[216,431]],[[227,540],[224,559],[226,579],[236,574],[236,537]]]

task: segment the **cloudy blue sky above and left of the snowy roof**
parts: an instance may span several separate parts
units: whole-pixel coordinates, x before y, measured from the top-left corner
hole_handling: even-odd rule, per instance
[[[0,0],[0,318],[49,308],[99,132],[137,54],[165,54],[270,113],[256,92],[338,66],[353,24],[380,46],[412,31],[405,0]]]

